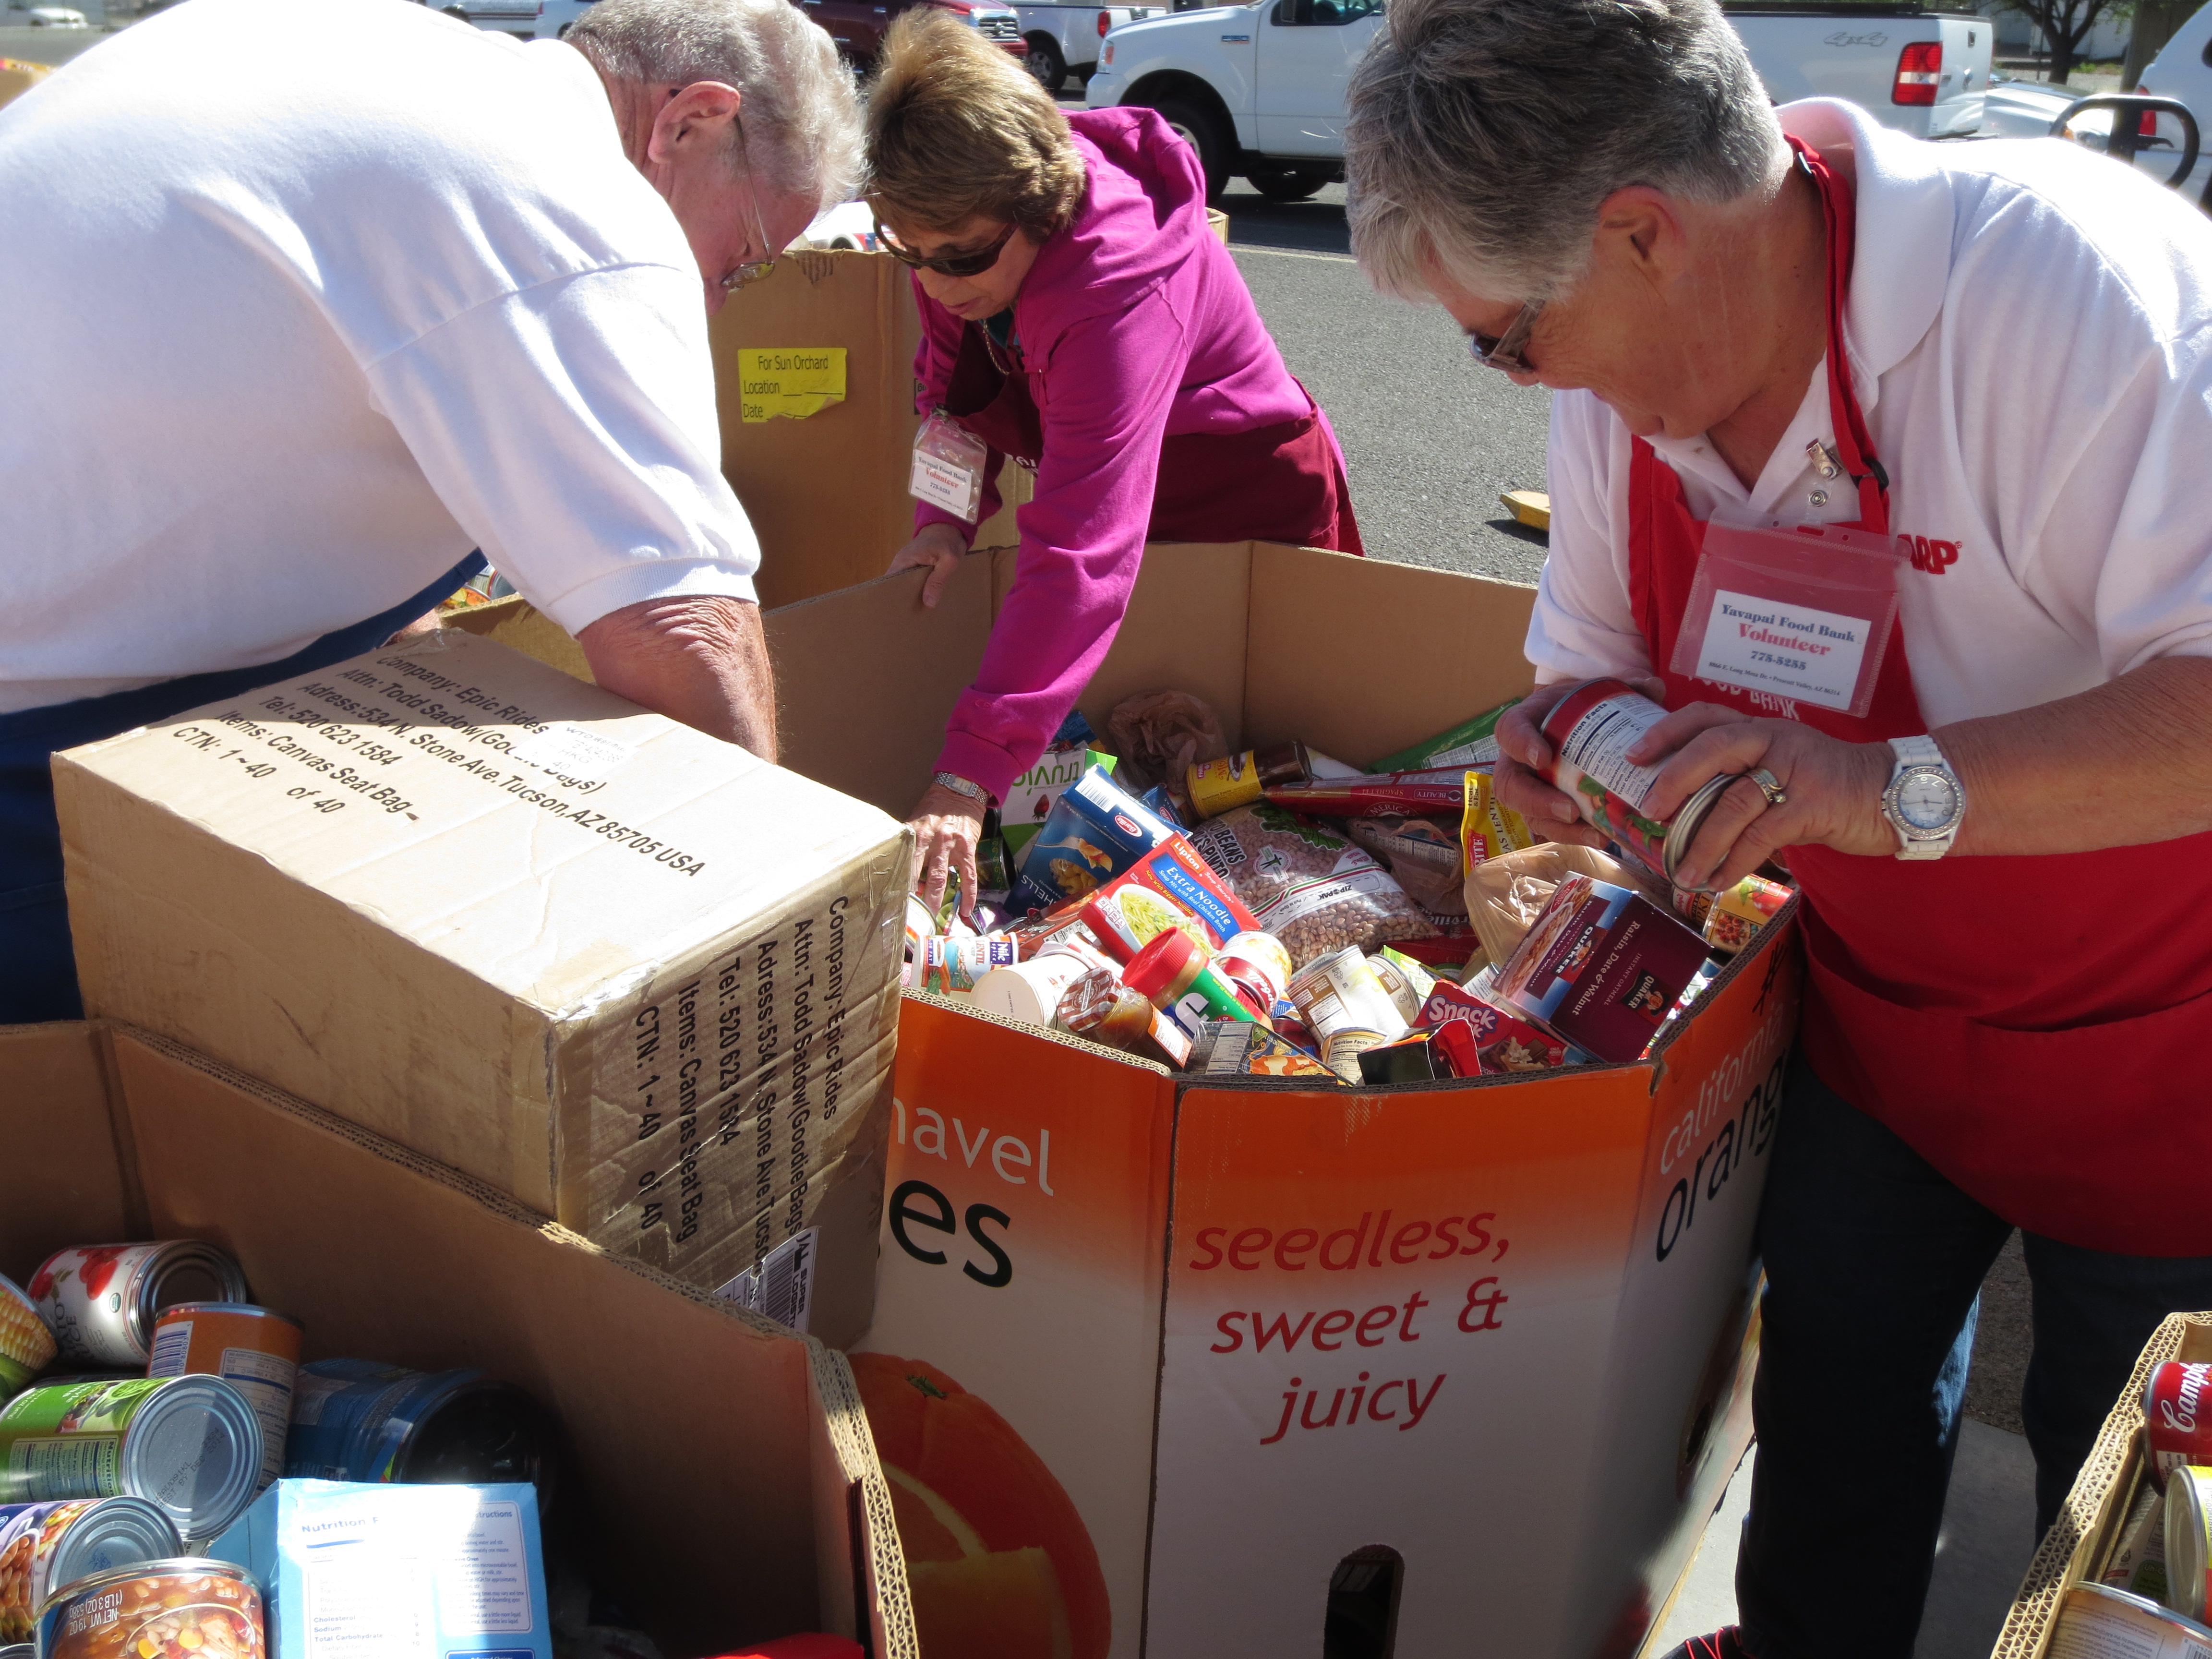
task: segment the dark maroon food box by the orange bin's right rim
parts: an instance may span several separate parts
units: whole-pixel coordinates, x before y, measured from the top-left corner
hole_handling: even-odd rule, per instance
[[[1568,876],[1498,971],[1498,995],[1599,1060],[1628,1062],[1705,964],[1705,940],[1641,894]]]

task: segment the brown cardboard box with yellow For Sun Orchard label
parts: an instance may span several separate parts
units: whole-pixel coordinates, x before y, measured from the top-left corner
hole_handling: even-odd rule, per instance
[[[889,254],[794,252],[732,294],[710,325],[721,471],[761,538],[761,604],[781,606],[883,575],[914,535],[907,493],[914,352],[922,338],[914,279]],[[843,398],[803,418],[748,418],[745,352],[843,352]],[[754,409],[754,416],[761,411]],[[1013,542],[1031,473],[1000,473],[1006,507],[978,546]]]

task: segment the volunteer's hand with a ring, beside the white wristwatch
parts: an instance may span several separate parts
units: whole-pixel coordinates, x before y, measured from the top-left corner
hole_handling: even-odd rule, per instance
[[[1672,818],[1717,774],[1759,765],[1787,796],[1770,805],[1747,776],[1728,785],[1674,869],[1677,887],[1719,891],[1781,847],[1834,847],[1869,858],[1898,849],[1898,834],[1882,816],[1893,759],[1887,743],[1845,743],[1798,721],[1745,719],[1721,703],[1690,703],[1652,726],[1628,759],[1659,765],[1659,781],[1641,805],[1650,818]]]

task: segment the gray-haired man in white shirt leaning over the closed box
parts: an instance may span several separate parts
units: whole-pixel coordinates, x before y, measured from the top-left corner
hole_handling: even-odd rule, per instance
[[[367,650],[487,557],[602,686],[774,759],[706,319],[858,161],[787,0],[533,44],[192,0],[0,113],[0,1022],[75,1013],[51,750]]]

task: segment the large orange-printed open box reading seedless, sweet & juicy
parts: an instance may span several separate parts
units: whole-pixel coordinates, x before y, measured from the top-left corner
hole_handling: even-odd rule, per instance
[[[933,611],[900,575],[770,613],[783,763],[905,816],[1013,571],[980,553]],[[1082,708],[1104,730],[1172,686],[1232,745],[1363,763],[1524,690],[1531,604],[1338,553],[1155,546]],[[560,659],[520,606],[458,626]],[[1312,1652],[1332,1610],[1400,1655],[1635,1655],[1750,1438],[1798,980],[1785,914],[1641,1064],[1327,1093],[909,993],[856,1369],[925,1637],[1013,1606],[1042,1548],[1075,1659]],[[964,1462],[1000,1498],[929,1447],[947,1383],[987,1402],[958,1407]],[[1332,1608],[1340,1577],[1380,1588]]]

